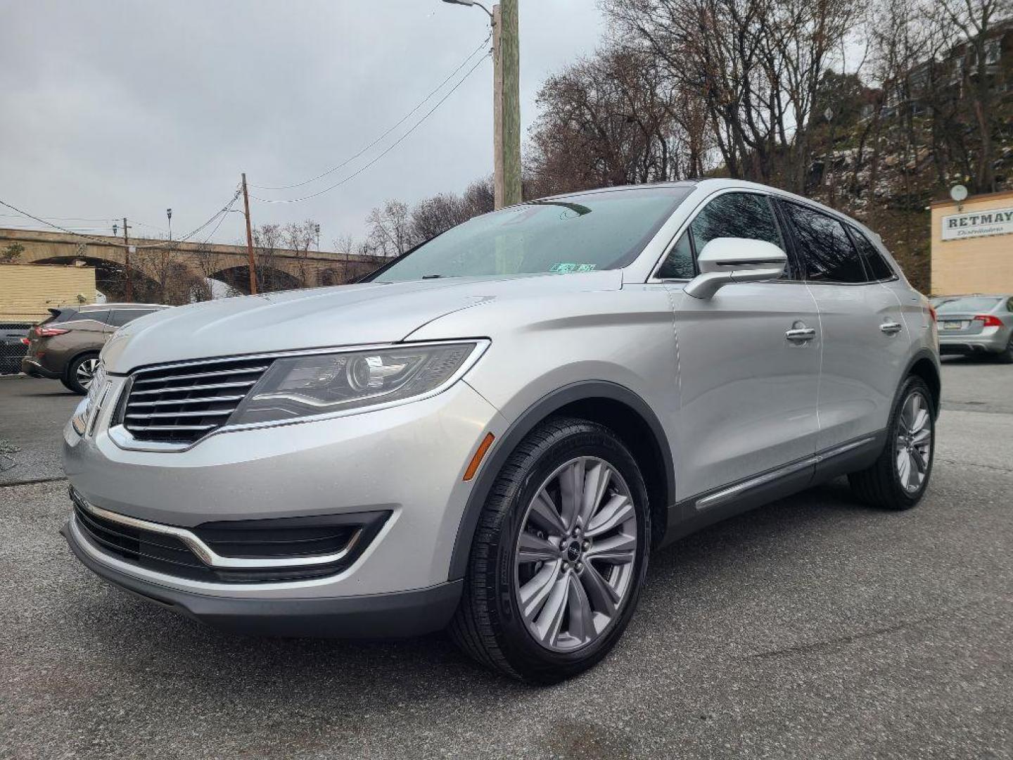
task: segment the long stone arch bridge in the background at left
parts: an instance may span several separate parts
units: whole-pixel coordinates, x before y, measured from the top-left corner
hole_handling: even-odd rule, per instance
[[[98,290],[122,298],[125,290],[125,247],[122,238],[93,235],[83,238],[64,232],[0,228],[0,252],[12,243],[23,246],[17,262],[94,267]],[[220,243],[173,242],[131,238],[137,246],[130,253],[135,296],[161,296],[186,292],[187,283],[216,280],[240,293],[249,293],[249,258],[246,246]],[[160,247],[146,247],[160,246]],[[376,269],[372,256],[345,255],[327,251],[300,251],[287,248],[253,248],[259,291],[340,285]],[[142,300],[137,298],[136,300]],[[189,300],[184,298],[183,300]]]

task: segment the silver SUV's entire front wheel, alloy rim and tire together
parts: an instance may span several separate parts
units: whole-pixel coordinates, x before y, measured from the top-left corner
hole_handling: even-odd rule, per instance
[[[629,622],[649,536],[643,477],[619,438],[583,420],[549,420],[492,485],[450,633],[515,678],[574,676],[604,658]]]

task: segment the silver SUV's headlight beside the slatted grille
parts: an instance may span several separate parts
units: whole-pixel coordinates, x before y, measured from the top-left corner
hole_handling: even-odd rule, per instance
[[[479,344],[404,346],[276,359],[229,420],[271,423],[404,401],[442,389]]]

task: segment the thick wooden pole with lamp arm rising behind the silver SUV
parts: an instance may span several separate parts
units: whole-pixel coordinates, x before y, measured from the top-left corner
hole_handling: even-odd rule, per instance
[[[443,0],[476,5],[492,24],[492,155],[493,207],[521,203],[521,50],[518,0],[500,0],[486,8],[477,0]]]

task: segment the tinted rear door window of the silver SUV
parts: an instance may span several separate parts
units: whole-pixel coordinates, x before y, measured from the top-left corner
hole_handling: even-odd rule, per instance
[[[785,203],[784,211],[803,258],[806,279],[830,283],[868,281],[844,225],[833,217],[793,203]]]

